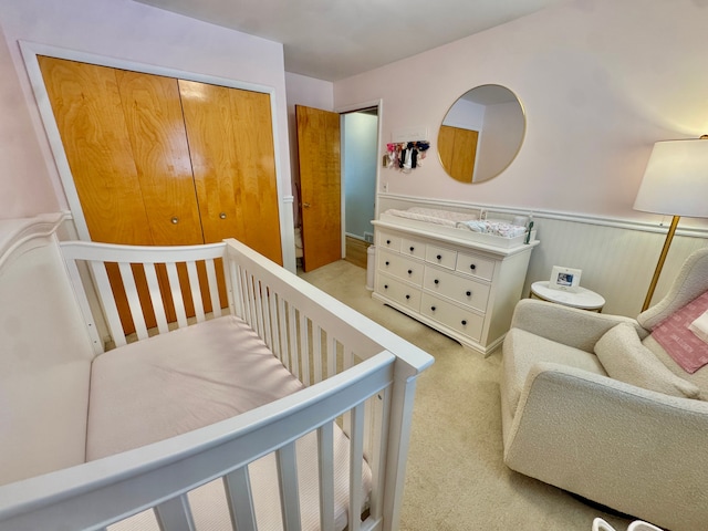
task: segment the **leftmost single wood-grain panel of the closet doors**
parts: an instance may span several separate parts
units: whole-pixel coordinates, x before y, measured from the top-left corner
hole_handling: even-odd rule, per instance
[[[152,244],[114,70],[38,60],[91,239]]]

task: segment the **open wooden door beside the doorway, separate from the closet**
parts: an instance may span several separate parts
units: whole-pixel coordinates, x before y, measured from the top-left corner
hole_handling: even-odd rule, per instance
[[[312,271],[342,258],[340,115],[295,105],[295,118],[302,267]]]

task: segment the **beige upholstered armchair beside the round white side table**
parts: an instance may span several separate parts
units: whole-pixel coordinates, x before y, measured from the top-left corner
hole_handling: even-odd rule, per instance
[[[708,366],[687,373],[649,335],[707,290],[708,248],[636,320],[522,300],[503,343],[504,462],[671,531],[708,529]]]

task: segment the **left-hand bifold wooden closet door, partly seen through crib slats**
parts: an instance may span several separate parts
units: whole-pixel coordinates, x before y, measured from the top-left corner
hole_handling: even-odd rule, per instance
[[[202,243],[177,80],[38,60],[91,239]],[[158,275],[166,281],[164,271]],[[110,269],[110,278],[114,290],[123,291],[117,267]],[[186,279],[186,271],[180,278]],[[138,294],[152,315],[144,281],[138,282]],[[129,333],[134,329],[124,295],[118,303]],[[171,301],[166,306],[171,310]]]

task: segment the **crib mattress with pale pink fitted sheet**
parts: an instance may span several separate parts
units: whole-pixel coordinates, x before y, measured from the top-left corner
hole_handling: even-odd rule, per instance
[[[93,363],[87,460],[239,415],[303,387],[240,319],[223,316],[100,355]],[[303,529],[319,529],[316,435],[296,444]],[[348,438],[335,426],[335,518],[346,525]],[[282,529],[275,459],[249,466],[259,530]],[[363,487],[371,489],[364,462]],[[365,498],[365,496],[364,496]],[[220,480],[189,493],[198,530],[231,529]],[[158,530],[152,511],[110,527]]]

